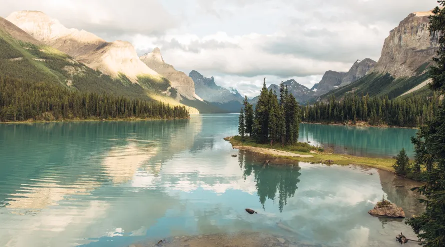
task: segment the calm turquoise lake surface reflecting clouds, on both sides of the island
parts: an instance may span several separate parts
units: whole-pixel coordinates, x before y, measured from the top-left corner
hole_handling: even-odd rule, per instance
[[[263,168],[261,157],[222,140],[237,123],[238,115],[222,114],[0,125],[0,246],[123,247],[240,230],[342,247],[398,246],[400,232],[414,238],[403,221],[367,213],[382,195],[408,216],[421,213],[413,182],[356,166]],[[339,126],[331,127],[302,125],[301,138],[338,146],[342,138],[356,152],[391,155],[412,134],[342,128],[335,135]]]

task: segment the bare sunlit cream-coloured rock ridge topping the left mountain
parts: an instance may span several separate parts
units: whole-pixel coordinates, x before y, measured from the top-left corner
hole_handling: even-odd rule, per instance
[[[137,82],[138,76],[161,79],[158,73],[140,61],[129,42],[106,42],[87,31],[66,28],[58,20],[40,11],[13,12],[6,19],[35,39],[74,57],[92,69],[113,77],[122,73],[132,82]]]

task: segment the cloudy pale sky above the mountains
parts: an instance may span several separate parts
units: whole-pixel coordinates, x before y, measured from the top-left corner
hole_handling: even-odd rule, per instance
[[[188,74],[214,76],[242,95],[295,79],[309,88],[327,70],[378,60],[385,38],[436,0],[2,0],[0,16],[40,10],[107,41],[155,47]]]

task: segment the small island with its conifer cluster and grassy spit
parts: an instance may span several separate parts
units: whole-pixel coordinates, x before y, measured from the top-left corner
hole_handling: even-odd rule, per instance
[[[286,159],[338,165],[365,165],[394,171],[394,159],[356,157],[334,154],[309,143],[298,142],[301,109],[283,83],[279,95],[267,90],[265,80],[255,107],[244,100],[239,117],[239,135],[224,138],[233,148],[267,155],[272,159]]]

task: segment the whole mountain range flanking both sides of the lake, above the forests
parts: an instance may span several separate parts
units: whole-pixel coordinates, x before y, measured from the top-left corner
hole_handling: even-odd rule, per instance
[[[328,70],[311,89],[294,79],[284,82],[300,103],[342,98],[346,93],[398,97],[427,90],[427,68],[439,49],[428,30],[431,11],[409,14],[385,39],[378,62],[357,60],[349,71]],[[67,28],[40,11],[0,17],[2,73],[32,81],[52,81],[90,92],[186,105],[191,113],[238,112],[243,96],[214,77],[187,74],[164,61],[161,50],[138,56],[126,41],[107,42],[93,33]],[[268,89],[277,88],[271,84]],[[257,97],[251,102],[256,103]]]

